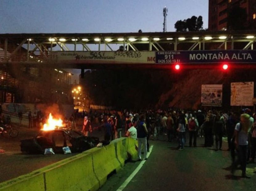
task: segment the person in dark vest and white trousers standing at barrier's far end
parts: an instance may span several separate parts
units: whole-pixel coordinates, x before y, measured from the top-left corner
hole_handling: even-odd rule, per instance
[[[147,160],[147,126],[145,123],[146,117],[145,115],[141,115],[139,118],[139,123],[137,126],[137,138],[138,138],[138,157],[139,160],[142,160],[141,157],[141,147],[143,145],[143,155],[144,159]]]

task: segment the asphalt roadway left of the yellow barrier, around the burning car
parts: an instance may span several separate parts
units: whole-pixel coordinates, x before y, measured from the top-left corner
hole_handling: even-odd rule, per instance
[[[77,121],[77,128],[81,129],[81,124],[82,119]],[[17,137],[0,136],[0,149],[5,150],[4,153],[0,153],[0,183],[78,154],[35,155],[22,153],[20,140],[36,136],[39,130],[19,127],[17,124],[13,124],[13,126],[19,130]],[[104,137],[103,131],[99,132],[98,130],[91,133],[91,136],[97,136],[100,140]]]

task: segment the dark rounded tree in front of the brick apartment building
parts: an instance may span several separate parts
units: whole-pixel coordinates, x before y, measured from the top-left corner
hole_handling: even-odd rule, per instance
[[[227,26],[229,30],[245,30],[247,21],[246,10],[237,6],[233,6],[228,11]]]

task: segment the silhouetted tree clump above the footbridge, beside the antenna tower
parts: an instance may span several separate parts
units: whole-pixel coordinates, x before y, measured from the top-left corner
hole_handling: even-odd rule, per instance
[[[192,16],[184,21],[177,21],[174,25],[177,32],[179,31],[198,31],[203,28],[203,17]]]

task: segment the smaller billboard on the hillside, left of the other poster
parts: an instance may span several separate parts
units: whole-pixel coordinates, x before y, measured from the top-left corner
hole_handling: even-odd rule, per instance
[[[222,106],[222,84],[202,84],[201,103],[203,106]]]

